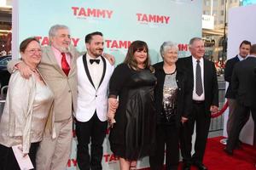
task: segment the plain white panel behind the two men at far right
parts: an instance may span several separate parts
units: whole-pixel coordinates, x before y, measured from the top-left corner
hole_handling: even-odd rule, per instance
[[[231,8],[229,12],[229,34],[228,34],[228,59],[239,53],[239,45],[243,40],[256,43],[256,5],[246,7]],[[228,85],[228,84],[227,84]],[[256,88],[256,87],[255,87]],[[224,116],[224,136],[226,133],[226,123],[228,120],[228,110]],[[253,120],[247,122],[240,135],[241,141],[253,144]]]

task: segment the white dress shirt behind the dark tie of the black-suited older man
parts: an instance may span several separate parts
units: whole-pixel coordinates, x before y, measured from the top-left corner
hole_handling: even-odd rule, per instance
[[[204,59],[201,58],[200,60],[200,66],[201,66],[201,82],[202,82],[202,88],[203,88],[203,94],[201,94],[201,96],[198,96],[195,93],[195,75],[196,75],[196,62],[197,59],[195,59],[194,56],[192,56],[192,64],[193,64],[193,75],[194,75],[194,88],[193,88],[193,99],[197,100],[197,101],[203,101],[205,100],[205,88],[204,88]]]

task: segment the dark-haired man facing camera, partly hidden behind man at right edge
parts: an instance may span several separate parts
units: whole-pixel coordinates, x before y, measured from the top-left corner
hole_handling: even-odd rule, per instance
[[[234,122],[234,111],[236,108],[236,94],[233,92],[231,86],[231,77],[232,77],[232,72],[234,69],[234,66],[236,65],[237,62],[247,59],[247,55],[250,52],[251,48],[251,42],[248,42],[247,40],[244,40],[241,42],[240,47],[239,47],[239,54],[236,55],[236,57],[233,57],[232,59],[229,59],[226,62],[225,66],[225,71],[224,71],[224,79],[226,82],[229,82],[229,87],[227,89],[225,97],[228,99],[229,102],[229,119],[227,122],[227,133],[228,136],[230,136],[230,129],[233,126]],[[247,117],[248,119],[249,117]]]

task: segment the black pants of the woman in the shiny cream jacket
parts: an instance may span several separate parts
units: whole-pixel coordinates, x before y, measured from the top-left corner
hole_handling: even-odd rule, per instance
[[[32,143],[28,154],[34,169],[36,169],[36,155],[38,146],[39,142]],[[3,144],[0,144],[0,170],[20,170],[13,149],[6,147]]]

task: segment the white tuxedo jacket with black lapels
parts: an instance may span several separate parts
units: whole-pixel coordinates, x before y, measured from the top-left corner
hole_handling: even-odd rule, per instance
[[[99,87],[94,84],[88,70],[86,54],[77,59],[78,67],[78,103],[75,117],[79,122],[88,122],[95,111],[98,118],[104,122],[107,120],[108,111],[108,83],[112,76],[114,66],[102,57],[103,73]],[[90,64],[90,63],[89,63]]]

